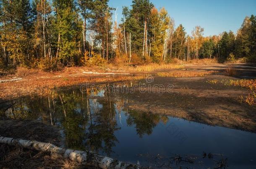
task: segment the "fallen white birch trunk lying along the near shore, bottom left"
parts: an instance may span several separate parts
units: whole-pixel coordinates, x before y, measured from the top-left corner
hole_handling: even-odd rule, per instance
[[[102,169],[142,169],[136,164],[128,164],[106,156],[91,153],[89,151],[78,151],[57,147],[50,143],[39,141],[29,141],[23,139],[14,139],[0,136],[0,144],[8,144],[10,146],[22,146],[26,149],[50,152],[54,156],[70,159],[88,166],[96,166]]]

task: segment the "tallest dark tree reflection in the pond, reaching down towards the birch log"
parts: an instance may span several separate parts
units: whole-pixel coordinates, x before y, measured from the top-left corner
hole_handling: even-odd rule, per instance
[[[95,99],[92,99],[95,100]],[[115,107],[110,93],[104,91],[104,97],[97,100],[99,110],[91,114],[91,124],[87,134],[86,144],[91,151],[110,155],[115,142],[118,142],[115,131],[120,129],[115,120]],[[92,104],[93,106],[94,104]]]

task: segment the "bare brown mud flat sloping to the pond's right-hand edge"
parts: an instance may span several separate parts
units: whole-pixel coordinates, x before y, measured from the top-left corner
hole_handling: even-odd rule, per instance
[[[238,96],[248,96],[250,91],[239,86],[206,82],[211,79],[223,80],[230,77],[223,75],[196,78],[155,77],[152,86],[173,84],[172,93],[147,91],[141,93],[136,88],[133,94],[125,94],[129,102],[126,107],[212,126],[256,132],[256,106],[248,106],[237,100]]]

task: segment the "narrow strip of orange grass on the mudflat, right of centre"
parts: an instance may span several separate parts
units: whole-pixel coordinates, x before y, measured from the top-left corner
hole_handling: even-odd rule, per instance
[[[210,74],[217,73],[216,71],[172,71],[168,73],[157,73],[157,76],[160,77],[202,77]]]

